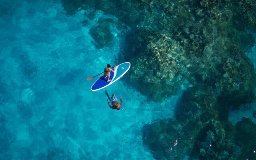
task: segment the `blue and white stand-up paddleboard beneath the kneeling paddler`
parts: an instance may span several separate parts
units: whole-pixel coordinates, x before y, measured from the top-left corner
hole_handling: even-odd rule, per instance
[[[109,86],[110,84],[116,82],[117,80],[119,80],[124,74],[126,74],[126,72],[130,69],[130,62],[124,62],[122,64],[119,64],[118,66],[113,67],[112,69],[114,69],[114,73],[110,72],[110,82],[107,82],[108,77],[104,78],[104,74],[98,79],[96,80],[96,82],[94,82],[94,84],[91,87],[92,91],[96,91],[96,90],[101,90],[102,88],[105,88],[107,86]]]

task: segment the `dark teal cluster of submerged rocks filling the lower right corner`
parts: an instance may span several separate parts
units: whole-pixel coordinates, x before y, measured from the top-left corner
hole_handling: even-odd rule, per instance
[[[227,103],[212,88],[195,86],[182,95],[174,119],[144,126],[142,140],[156,159],[182,160],[190,155],[193,160],[235,160],[254,156],[252,149],[251,153],[243,152],[248,148],[247,141],[239,137],[248,135],[253,140],[248,130],[253,130],[255,124],[248,123],[247,131],[242,132],[240,122],[235,128],[227,118]],[[178,144],[174,146],[176,140]]]

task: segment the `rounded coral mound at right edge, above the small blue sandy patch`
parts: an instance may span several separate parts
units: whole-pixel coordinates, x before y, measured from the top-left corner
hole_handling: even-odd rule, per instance
[[[220,40],[208,44],[204,48],[202,62],[198,60],[198,63],[198,67],[193,68],[196,80],[211,86],[229,106],[238,109],[240,104],[255,100],[255,70],[238,46],[223,44]]]

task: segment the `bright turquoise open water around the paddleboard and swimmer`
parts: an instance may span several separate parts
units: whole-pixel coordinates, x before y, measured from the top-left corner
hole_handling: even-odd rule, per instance
[[[106,88],[122,96],[117,111],[108,107],[104,90],[90,90],[96,79],[87,77],[122,62],[124,36],[115,26],[112,46],[92,44],[89,29],[106,15],[97,11],[84,27],[87,11],[66,16],[58,1],[3,4],[0,159],[153,159],[142,126],[172,117],[178,96],[151,102],[120,79]]]

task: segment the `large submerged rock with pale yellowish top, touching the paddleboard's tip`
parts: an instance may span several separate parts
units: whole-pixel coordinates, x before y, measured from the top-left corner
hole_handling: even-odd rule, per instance
[[[131,53],[126,58],[132,64],[128,77],[142,94],[156,102],[175,95],[185,80],[184,49],[168,36],[142,29],[132,39],[126,38]],[[187,62],[189,63],[189,62]],[[182,72],[183,70],[183,72]],[[139,81],[138,81],[139,80]],[[135,83],[136,82],[136,83]]]

